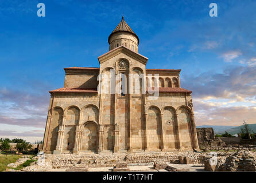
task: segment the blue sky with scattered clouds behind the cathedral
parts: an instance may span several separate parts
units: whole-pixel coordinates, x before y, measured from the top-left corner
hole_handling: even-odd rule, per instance
[[[181,69],[196,125],[255,124],[255,10],[253,0],[0,0],[0,137],[42,140],[48,91],[63,87],[64,67],[99,67],[122,15],[146,68]]]

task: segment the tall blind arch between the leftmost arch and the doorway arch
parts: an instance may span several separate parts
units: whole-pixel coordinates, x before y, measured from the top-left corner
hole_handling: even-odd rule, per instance
[[[80,109],[77,106],[69,106],[65,117],[63,150],[72,151],[75,147],[75,130],[79,124]]]

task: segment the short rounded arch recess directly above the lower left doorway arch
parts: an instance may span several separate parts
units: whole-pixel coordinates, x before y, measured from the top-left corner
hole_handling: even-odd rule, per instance
[[[99,108],[94,104],[88,104],[81,109],[82,121],[99,122]]]

